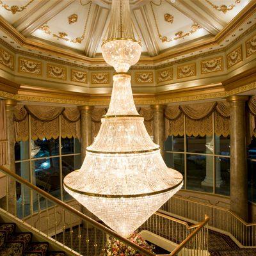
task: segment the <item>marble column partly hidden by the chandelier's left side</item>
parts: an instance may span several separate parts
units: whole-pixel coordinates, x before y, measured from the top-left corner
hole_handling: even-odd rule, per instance
[[[80,129],[81,129],[81,161],[83,162],[86,147],[92,144],[92,109],[93,106],[81,106]]]

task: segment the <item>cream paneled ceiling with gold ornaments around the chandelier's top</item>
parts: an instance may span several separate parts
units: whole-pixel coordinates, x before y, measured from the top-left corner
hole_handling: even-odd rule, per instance
[[[0,3],[2,20],[31,45],[35,42],[45,49],[54,47],[96,60],[102,58],[100,45],[108,29],[111,0],[1,0]],[[154,58],[178,47],[188,50],[200,42],[215,40],[248,6],[255,8],[256,1],[130,0],[130,3],[134,33],[143,45],[141,58]],[[244,29],[255,23],[253,18]],[[238,29],[227,42],[243,33],[243,29]],[[10,44],[1,26],[0,36]],[[19,45],[16,42],[13,47]],[[214,49],[223,46],[225,42]],[[211,50],[210,46],[204,51]],[[176,56],[185,55],[180,52]]]

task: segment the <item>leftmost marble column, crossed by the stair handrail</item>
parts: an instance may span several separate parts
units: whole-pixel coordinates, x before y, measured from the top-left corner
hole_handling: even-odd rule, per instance
[[[8,159],[9,164],[6,165],[13,173],[15,173],[15,130],[14,130],[14,108],[17,105],[17,101],[13,99],[5,100],[6,108],[6,127],[7,127],[7,139],[8,139]],[[9,212],[14,214],[15,212],[15,180],[9,179]]]

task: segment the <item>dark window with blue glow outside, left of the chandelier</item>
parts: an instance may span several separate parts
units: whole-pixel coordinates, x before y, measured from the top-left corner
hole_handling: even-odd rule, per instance
[[[16,173],[29,180],[38,188],[59,198],[70,200],[63,189],[65,175],[81,167],[81,143],[77,138],[61,138],[61,116],[58,117],[60,131],[57,138],[38,138],[32,140],[28,134],[27,141],[15,143]],[[28,131],[31,132],[31,116],[29,115]],[[30,143],[29,143],[30,141]],[[34,198],[35,197],[35,198]],[[22,200],[25,201],[25,214],[29,214],[29,191],[17,184],[17,210],[21,211]],[[33,196],[34,211],[37,211],[38,198]],[[45,204],[41,202],[43,207]],[[20,210],[20,211],[19,211]]]

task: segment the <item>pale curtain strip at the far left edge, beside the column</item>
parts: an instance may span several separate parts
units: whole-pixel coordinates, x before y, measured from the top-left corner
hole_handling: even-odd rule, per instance
[[[8,140],[4,100],[0,100],[0,165],[8,164]]]

